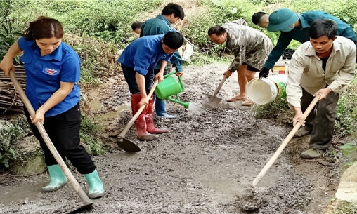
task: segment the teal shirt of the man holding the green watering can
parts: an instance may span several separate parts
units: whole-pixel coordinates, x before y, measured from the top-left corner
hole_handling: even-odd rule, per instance
[[[143,25],[141,25],[140,37],[166,34],[167,32],[171,31],[176,31],[176,29],[171,27],[171,23],[169,22],[169,20],[167,20],[167,18],[165,18],[163,15],[157,15],[156,18],[151,18],[143,22]],[[181,55],[180,53],[178,53],[178,51],[174,52],[174,55],[172,55],[170,62],[176,65],[176,69],[178,72],[183,71],[183,60],[181,59]],[[155,66],[155,69],[160,69],[160,67],[161,65],[159,63]]]

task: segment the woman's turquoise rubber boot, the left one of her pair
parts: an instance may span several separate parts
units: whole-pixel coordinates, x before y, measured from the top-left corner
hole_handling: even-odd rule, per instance
[[[65,173],[63,173],[63,170],[60,168],[58,164],[47,166],[47,168],[48,168],[48,174],[50,175],[50,182],[46,187],[42,187],[42,192],[56,191],[57,189],[60,189],[60,187],[63,187],[63,185],[65,185],[68,182]]]

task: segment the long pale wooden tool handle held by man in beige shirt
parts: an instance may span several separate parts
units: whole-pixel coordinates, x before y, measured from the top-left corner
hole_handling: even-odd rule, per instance
[[[311,101],[309,107],[307,107],[306,111],[304,112],[305,118],[307,116],[309,116],[311,110],[313,109],[313,107],[315,107],[315,105],[319,99],[320,99],[320,95],[317,95],[315,98],[313,98],[313,101]],[[252,184],[253,187],[255,187],[258,184],[258,182],[261,180],[261,178],[263,178],[263,176],[266,174],[268,169],[271,168],[271,165],[273,165],[273,163],[278,158],[278,156],[281,154],[281,152],[283,152],[283,149],[286,147],[287,143],[290,142],[290,140],[292,139],[292,137],[294,137],[295,133],[297,133],[297,131],[299,130],[300,127],[301,127],[301,123],[297,123],[294,126],[294,128],[292,128],[292,131],[290,131],[289,135],[287,135],[287,137],[285,138],[283,143],[280,145],[280,147],[276,150],[276,152],[273,154],[273,156],[271,156],[271,159],[268,161],[268,163],[266,163],[264,168],[260,171],[257,178],[255,178],[253,180],[253,184]]]

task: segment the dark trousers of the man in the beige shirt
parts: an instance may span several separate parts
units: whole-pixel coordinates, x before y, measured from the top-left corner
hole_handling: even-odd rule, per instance
[[[301,110],[305,112],[313,100],[313,95],[302,88]],[[332,142],[335,130],[336,107],[339,102],[339,94],[333,91],[327,97],[318,101],[309,116],[306,118],[306,126],[312,125],[310,137],[310,149],[327,149]]]

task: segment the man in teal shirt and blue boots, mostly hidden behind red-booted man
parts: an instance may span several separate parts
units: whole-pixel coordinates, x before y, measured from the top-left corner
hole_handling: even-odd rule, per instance
[[[176,23],[178,20],[183,20],[185,17],[185,13],[183,12],[183,8],[178,4],[169,3],[162,9],[160,15],[157,15],[156,18],[151,18],[149,20],[145,20],[143,25],[141,25],[140,36],[152,36],[157,34],[166,34],[167,32],[176,31],[171,24]],[[174,55],[170,60],[170,63],[173,67],[176,67],[176,76],[182,76],[183,60],[181,59],[180,53],[175,51]],[[157,74],[160,69],[160,62],[156,65],[154,72]],[[167,69],[164,70],[164,74],[167,74]],[[176,115],[167,114],[166,102],[165,100],[160,100],[156,98],[155,100],[155,112],[158,118],[167,118],[167,119],[176,119]]]

